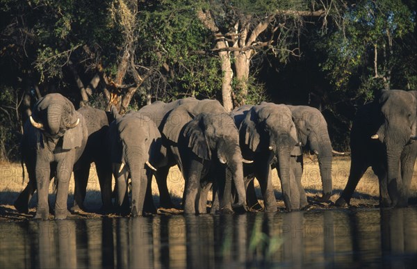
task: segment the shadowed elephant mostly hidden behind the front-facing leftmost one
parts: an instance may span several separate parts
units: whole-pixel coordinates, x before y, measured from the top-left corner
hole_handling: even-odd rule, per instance
[[[99,184],[101,188],[101,202],[103,206],[101,211],[111,211],[111,168],[109,166],[108,158],[106,158],[106,148],[103,147],[106,142],[106,133],[108,131],[108,124],[112,122],[113,116],[111,113],[92,108],[90,106],[83,106],[79,108],[78,113],[83,115],[85,120],[85,126],[88,131],[88,140],[81,154],[80,158],[74,164],[74,206],[72,211],[83,210],[86,211],[83,206],[85,199],[85,193],[88,184],[88,177],[90,173],[90,165],[95,163],[97,175],[99,178]],[[15,201],[15,208],[22,213],[28,213],[28,202],[30,201],[33,193],[36,190],[35,172],[33,171],[33,162],[35,160],[35,147],[28,147],[28,137],[22,141],[22,155],[25,157],[26,168],[29,170],[29,182],[26,188],[20,193]],[[33,141],[34,145],[35,141]],[[22,158],[23,161],[23,158]],[[31,168],[31,169],[29,169]],[[54,170],[54,169],[52,169]],[[50,177],[54,177],[51,174]]]

